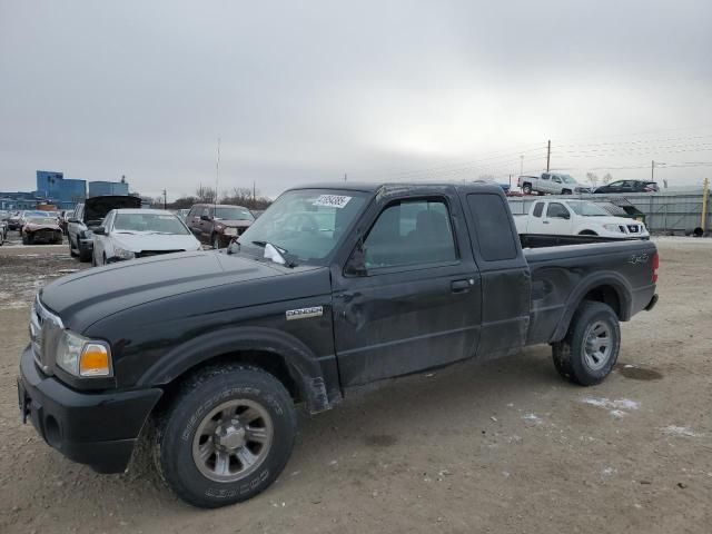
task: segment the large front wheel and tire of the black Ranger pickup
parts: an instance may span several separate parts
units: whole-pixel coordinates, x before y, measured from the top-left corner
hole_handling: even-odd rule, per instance
[[[156,466],[187,503],[216,508],[266,490],[284,469],[297,417],[283,384],[249,366],[189,378],[159,418]]]

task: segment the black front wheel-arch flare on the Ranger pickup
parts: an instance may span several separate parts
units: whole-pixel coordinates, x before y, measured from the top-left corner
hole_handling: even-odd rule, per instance
[[[167,385],[199,364],[241,350],[279,356],[310,413],[332,407],[322,367],[309,347],[285,332],[257,326],[222,328],[195,337],[164,355],[144,374],[138,385]]]

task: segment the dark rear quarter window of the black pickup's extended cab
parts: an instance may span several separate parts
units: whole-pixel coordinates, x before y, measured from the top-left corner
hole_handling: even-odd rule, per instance
[[[517,249],[505,202],[500,195],[467,195],[479,254],[486,261],[516,258]]]

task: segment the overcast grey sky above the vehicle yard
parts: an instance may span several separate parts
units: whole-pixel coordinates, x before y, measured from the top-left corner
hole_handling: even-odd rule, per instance
[[[221,191],[506,181],[547,139],[578,179],[696,184],[711,49],[703,0],[0,0],[0,190],[46,169],[175,198],[215,184],[218,137]]]

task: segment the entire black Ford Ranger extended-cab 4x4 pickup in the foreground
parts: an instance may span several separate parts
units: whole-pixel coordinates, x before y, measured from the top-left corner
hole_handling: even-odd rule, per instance
[[[567,379],[600,383],[619,322],[654,306],[656,270],[649,240],[517,236],[495,186],[295,188],[221,251],[44,287],[21,415],[103,473],[150,439],[181,498],[221,506],[277,478],[296,404],[315,414],[358,386],[534,344]]]

